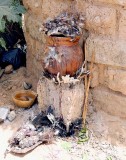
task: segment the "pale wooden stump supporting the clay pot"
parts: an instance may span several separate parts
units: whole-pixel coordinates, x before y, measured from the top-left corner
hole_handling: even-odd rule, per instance
[[[51,105],[56,117],[62,117],[66,126],[82,116],[84,104],[84,82],[55,84],[41,77],[37,85],[38,102],[42,111]]]

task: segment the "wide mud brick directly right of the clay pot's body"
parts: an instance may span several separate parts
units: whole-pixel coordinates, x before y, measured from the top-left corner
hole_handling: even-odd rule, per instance
[[[90,36],[86,41],[86,59],[95,53],[95,63],[126,67],[126,41]]]

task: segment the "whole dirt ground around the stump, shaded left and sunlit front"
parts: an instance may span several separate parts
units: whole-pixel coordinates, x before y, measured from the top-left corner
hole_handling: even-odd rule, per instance
[[[15,73],[3,75],[0,79],[0,106],[14,105],[11,96],[20,89],[22,83],[32,83],[26,75],[25,68]],[[89,140],[78,144],[78,136],[70,138],[54,138],[51,144],[43,144],[25,155],[7,154],[8,139],[15,131],[39,112],[35,104],[30,109],[15,108],[16,119],[13,122],[6,120],[0,124],[0,160],[125,160],[126,159],[126,120],[108,115],[102,111],[96,112],[90,105],[87,116]]]

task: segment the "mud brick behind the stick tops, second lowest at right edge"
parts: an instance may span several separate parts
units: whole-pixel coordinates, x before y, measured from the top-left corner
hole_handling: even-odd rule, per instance
[[[95,64],[92,73],[91,87],[104,85],[113,91],[126,95],[126,70],[102,64]]]

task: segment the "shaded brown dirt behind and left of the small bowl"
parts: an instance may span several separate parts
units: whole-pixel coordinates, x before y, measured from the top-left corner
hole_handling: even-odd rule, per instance
[[[10,74],[4,74],[0,78],[0,106],[13,105],[12,95],[14,92],[24,89],[23,82],[29,82],[34,87],[34,80],[26,72],[25,67],[21,67]]]

